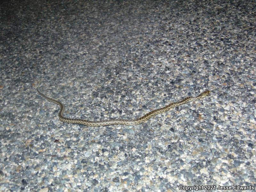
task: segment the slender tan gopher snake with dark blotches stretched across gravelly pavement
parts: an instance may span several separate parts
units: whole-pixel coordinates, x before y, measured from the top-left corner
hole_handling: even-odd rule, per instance
[[[145,121],[147,121],[148,119],[150,119],[151,117],[160,114],[160,113],[164,113],[166,111],[169,111],[171,108],[175,108],[178,107],[180,105],[183,105],[189,101],[194,101],[194,100],[198,100],[201,98],[206,97],[207,95],[210,94],[210,91],[206,90],[202,93],[200,93],[199,95],[197,95],[196,97],[187,97],[179,102],[174,102],[174,103],[170,103],[169,105],[163,107],[163,108],[159,108],[159,109],[155,109],[153,111],[150,111],[149,113],[147,113],[146,115],[139,117],[137,119],[132,119],[132,120],[125,120],[125,119],[110,119],[110,120],[103,120],[103,121],[87,121],[85,119],[72,119],[72,118],[68,118],[68,117],[64,117],[63,113],[64,113],[64,106],[63,104],[55,99],[52,99],[50,97],[47,97],[46,95],[44,95],[43,93],[38,91],[37,88],[37,92],[39,95],[41,95],[42,97],[44,97],[46,100],[55,103],[57,105],[60,106],[60,112],[59,112],[59,119],[62,122],[65,123],[76,123],[76,124],[83,124],[83,125],[88,125],[91,127],[98,127],[98,126],[105,126],[105,125],[112,125],[112,124],[122,124],[122,125],[137,125],[137,124],[141,124]]]

